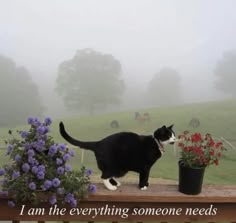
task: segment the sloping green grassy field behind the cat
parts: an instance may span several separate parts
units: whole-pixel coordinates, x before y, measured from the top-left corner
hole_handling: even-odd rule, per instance
[[[132,131],[139,134],[152,134],[153,131],[162,125],[175,124],[176,134],[188,129],[191,132],[211,133],[214,137],[230,139],[236,147],[236,101],[210,102],[184,105],[179,107],[153,108],[139,112],[149,112],[151,121],[141,123],[134,120],[134,112],[111,113],[97,116],[69,117],[63,118],[63,122],[71,135],[80,140],[99,140],[107,135],[120,131]],[[197,129],[188,126],[189,121],[197,117],[201,124]],[[119,129],[111,129],[111,120],[118,120]],[[54,120],[51,134],[56,142],[64,142],[58,133],[58,123],[61,120]],[[18,129],[28,129],[27,126],[20,126]],[[8,137],[8,129],[0,129],[0,145],[4,138]],[[235,140],[235,142],[233,142]],[[236,184],[236,151],[225,144],[228,151],[219,166],[207,168],[204,178],[206,184]],[[72,164],[74,168],[80,167],[81,150],[76,148],[76,157]],[[0,150],[0,162],[6,163],[5,151]],[[173,146],[168,146],[165,155],[153,166],[151,177],[177,180],[178,178],[178,154],[174,153]],[[92,168],[95,175],[100,172],[97,169],[96,161],[92,152],[85,151],[84,165]],[[135,174],[129,174],[135,177]],[[157,180],[158,182],[158,180]]]

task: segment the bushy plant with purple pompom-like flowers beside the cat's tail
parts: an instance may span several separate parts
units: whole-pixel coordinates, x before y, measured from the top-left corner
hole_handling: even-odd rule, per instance
[[[13,197],[8,202],[11,207],[16,202],[37,204],[43,199],[41,192],[47,193],[51,205],[68,203],[75,207],[78,198],[96,191],[90,184],[91,170],[72,170],[68,162],[74,151],[54,142],[49,135],[51,123],[50,118],[44,122],[28,118],[29,131],[17,131],[19,139],[12,136],[6,141],[11,162],[0,168],[0,176],[4,176],[3,192]]]

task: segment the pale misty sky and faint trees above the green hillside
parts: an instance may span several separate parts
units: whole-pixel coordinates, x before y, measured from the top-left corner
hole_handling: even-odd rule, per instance
[[[5,117],[13,110],[57,117],[235,97],[233,0],[0,5]]]

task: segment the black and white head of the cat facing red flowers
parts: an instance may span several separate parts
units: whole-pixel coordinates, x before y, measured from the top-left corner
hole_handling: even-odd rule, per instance
[[[163,145],[174,144],[176,141],[175,133],[172,130],[173,125],[166,127],[165,125],[154,132],[154,137]]]

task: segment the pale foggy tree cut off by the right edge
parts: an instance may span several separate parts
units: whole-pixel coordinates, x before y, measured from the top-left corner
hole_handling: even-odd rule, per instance
[[[236,96],[236,51],[226,52],[215,68],[216,88]]]

